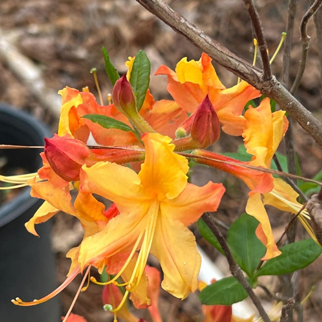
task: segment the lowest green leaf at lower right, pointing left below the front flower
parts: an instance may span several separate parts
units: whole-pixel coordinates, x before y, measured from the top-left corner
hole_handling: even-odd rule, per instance
[[[199,300],[206,305],[232,305],[247,298],[247,292],[233,276],[226,277],[206,286]]]

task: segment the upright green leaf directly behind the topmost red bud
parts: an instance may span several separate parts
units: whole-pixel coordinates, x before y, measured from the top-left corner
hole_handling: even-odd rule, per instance
[[[135,56],[130,77],[130,84],[137,97],[137,111],[141,109],[149,87],[150,70],[151,64],[147,54],[140,50]]]

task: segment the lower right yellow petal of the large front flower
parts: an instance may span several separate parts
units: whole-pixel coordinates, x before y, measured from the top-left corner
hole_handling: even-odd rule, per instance
[[[193,233],[183,223],[159,216],[151,253],[161,264],[163,289],[182,299],[197,289],[201,258]]]

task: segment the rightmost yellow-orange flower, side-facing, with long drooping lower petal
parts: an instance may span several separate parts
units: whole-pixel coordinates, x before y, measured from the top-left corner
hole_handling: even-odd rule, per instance
[[[269,98],[263,99],[259,107],[253,108],[250,106],[245,112],[247,121],[242,136],[247,153],[253,155],[250,165],[270,168],[272,157],[288,128],[288,120],[284,114],[285,111],[282,110],[271,112]],[[262,195],[251,193],[246,205],[246,212],[260,222],[256,235],[267,248],[262,260],[268,260],[281,253],[276,246],[264,205],[270,204],[282,211],[291,213],[298,213],[302,207],[296,200],[298,193],[287,183],[274,178],[273,185],[273,189]],[[314,235],[304,216],[306,216],[306,213],[302,212],[299,219],[313,237]]]

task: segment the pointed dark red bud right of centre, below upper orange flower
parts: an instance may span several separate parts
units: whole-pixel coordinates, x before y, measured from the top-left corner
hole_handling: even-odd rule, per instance
[[[220,123],[208,95],[181,125],[179,130],[182,129],[198,142],[200,148],[208,147],[219,139]]]

